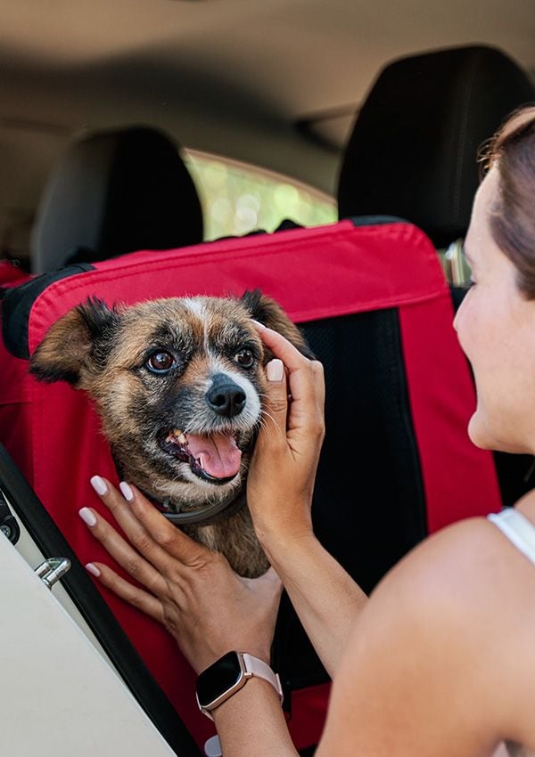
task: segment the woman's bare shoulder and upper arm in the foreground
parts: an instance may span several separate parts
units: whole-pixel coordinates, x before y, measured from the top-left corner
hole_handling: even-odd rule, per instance
[[[526,630],[533,639],[535,611],[524,612],[527,598],[520,601],[514,585],[531,582],[535,598],[535,566],[520,558],[519,565],[495,525],[471,518],[425,540],[385,576],[359,616],[333,690],[341,722],[345,702],[366,711],[369,723],[358,720],[353,737],[362,728],[377,737],[391,720],[411,745],[400,754],[430,753],[433,740],[459,754],[490,752],[506,737],[533,743],[535,661]],[[376,728],[370,696],[380,702]]]

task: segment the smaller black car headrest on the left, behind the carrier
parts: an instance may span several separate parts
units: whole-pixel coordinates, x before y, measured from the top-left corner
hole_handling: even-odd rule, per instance
[[[201,203],[177,144],[132,126],[92,134],[66,152],[37,214],[32,270],[201,241]]]

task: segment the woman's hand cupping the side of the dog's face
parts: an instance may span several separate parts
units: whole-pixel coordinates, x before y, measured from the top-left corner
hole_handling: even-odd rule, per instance
[[[258,325],[276,359],[266,369],[268,393],[247,501],[259,541],[269,552],[271,544],[282,546],[285,539],[292,542],[312,533],[310,504],[325,434],[325,383],[320,362]]]

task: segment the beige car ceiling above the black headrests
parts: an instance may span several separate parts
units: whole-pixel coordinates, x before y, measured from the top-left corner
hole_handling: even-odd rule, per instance
[[[535,5],[5,0],[0,40],[5,226],[7,216],[29,223],[45,175],[74,134],[133,123],[333,192],[353,114],[386,62],[482,43],[535,72]],[[299,131],[303,120],[329,144]]]

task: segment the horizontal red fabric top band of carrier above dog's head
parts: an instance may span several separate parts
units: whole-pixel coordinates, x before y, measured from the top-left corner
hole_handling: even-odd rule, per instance
[[[30,352],[50,324],[88,294],[134,303],[190,293],[241,296],[244,289],[259,287],[294,321],[305,322],[436,296],[445,289],[436,265],[431,243],[415,226],[355,229],[350,221],[169,252],[138,252],[48,287],[32,309]]]

